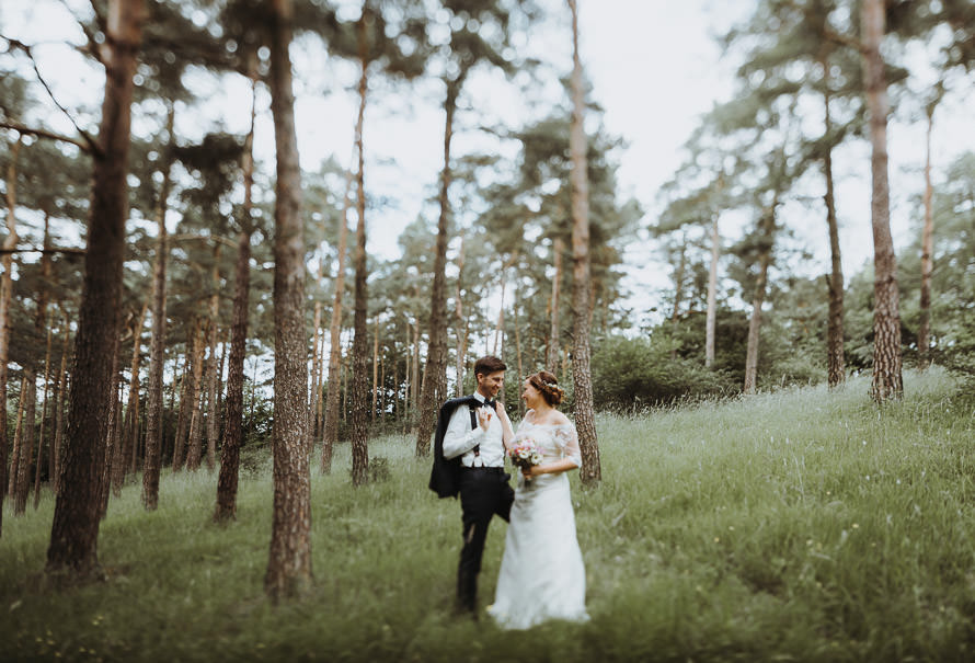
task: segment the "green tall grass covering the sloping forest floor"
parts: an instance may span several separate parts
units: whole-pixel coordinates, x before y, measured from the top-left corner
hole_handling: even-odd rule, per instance
[[[0,660],[972,660],[975,399],[937,370],[883,408],[868,387],[600,416],[603,484],[573,478],[586,625],[452,617],[460,507],[426,489],[412,438],[385,437],[370,451],[388,481],[353,489],[347,445],[313,477],[316,585],[278,607],[262,592],[267,465],[228,526],[205,470],[164,476],[151,514],[127,485],[101,528],[108,581],[71,590],[43,582],[53,499],[8,512]]]

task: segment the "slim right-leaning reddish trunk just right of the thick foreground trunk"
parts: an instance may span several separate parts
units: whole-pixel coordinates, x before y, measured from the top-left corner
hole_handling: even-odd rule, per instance
[[[365,112],[359,110],[356,136],[363,132]],[[332,302],[332,320],[329,324],[329,387],[325,392],[325,422],[322,432],[321,472],[332,471],[332,448],[339,441],[339,400],[342,395],[342,296],[345,294],[345,256],[348,253],[348,208],[352,205],[352,168],[345,173],[345,197],[339,227],[339,267],[335,274],[335,299]]]

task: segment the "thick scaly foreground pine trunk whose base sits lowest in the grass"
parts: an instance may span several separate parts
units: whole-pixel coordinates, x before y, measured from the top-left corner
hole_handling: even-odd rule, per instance
[[[277,185],[274,209],[274,516],[264,588],[274,601],[311,583],[311,478],[308,472],[308,340],[301,171],[291,88],[292,8],[273,0],[271,111]]]

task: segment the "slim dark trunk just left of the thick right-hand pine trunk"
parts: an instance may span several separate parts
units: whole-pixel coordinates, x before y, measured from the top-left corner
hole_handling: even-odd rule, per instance
[[[829,312],[826,322],[826,370],[829,388],[836,388],[846,380],[846,362],[844,357],[844,276],[842,260],[839,248],[839,225],[836,219],[836,198],[833,182],[833,146],[830,144],[833,123],[829,117],[829,62],[822,58],[824,84],[824,139],[826,152],[823,155],[823,176],[826,180],[826,225],[829,228]]]

